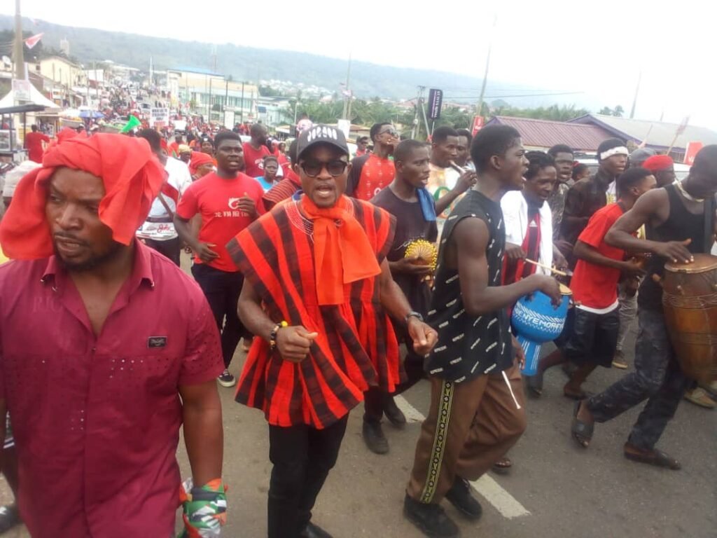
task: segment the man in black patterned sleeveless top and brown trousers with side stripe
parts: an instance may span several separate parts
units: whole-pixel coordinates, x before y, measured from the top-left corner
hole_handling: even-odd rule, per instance
[[[520,134],[510,126],[483,128],[470,154],[478,182],[447,218],[440,240],[427,318],[439,334],[426,365],[431,407],[404,500],[407,518],[438,538],[458,533],[439,506],[441,499],[478,519],[480,504],[467,481],[488,471],[526,427],[518,366],[524,356],[505,307],[538,290],[560,301],[558,283],[547,275],[500,285],[505,253],[500,198],[523,187],[528,164]]]

